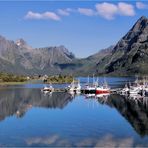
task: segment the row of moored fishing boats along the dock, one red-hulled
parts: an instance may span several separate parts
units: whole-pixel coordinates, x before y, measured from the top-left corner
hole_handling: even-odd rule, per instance
[[[52,84],[46,85],[43,89],[43,92],[68,92],[71,94],[120,94],[125,96],[130,95],[141,95],[147,96],[148,95],[148,82],[146,79],[138,79],[136,78],[133,82],[128,82],[122,88],[111,88],[106,79],[104,78],[103,83],[99,84],[98,77],[93,77],[93,83],[88,81],[85,84],[81,84],[80,80],[75,81],[73,79],[72,83],[65,88],[53,88]]]

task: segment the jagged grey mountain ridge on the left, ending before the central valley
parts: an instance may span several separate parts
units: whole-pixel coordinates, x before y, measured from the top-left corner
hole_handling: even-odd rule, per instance
[[[56,74],[58,64],[69,63],[75,56],[64,46],[33,49],[23,39],[16,42],[0,36],[0,71],[18,74]]]

